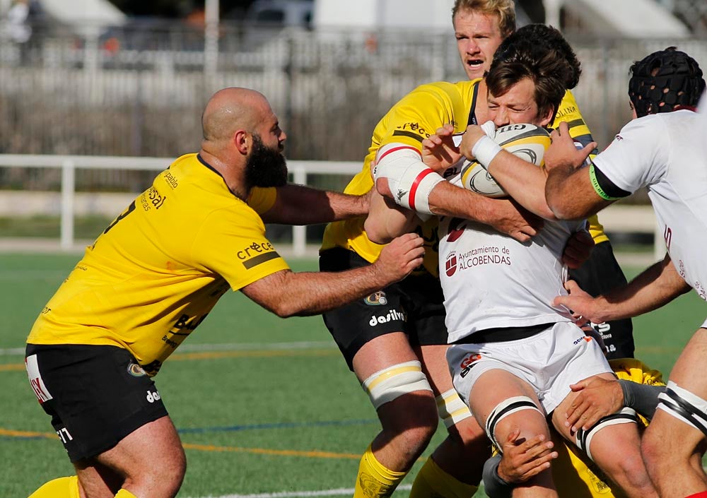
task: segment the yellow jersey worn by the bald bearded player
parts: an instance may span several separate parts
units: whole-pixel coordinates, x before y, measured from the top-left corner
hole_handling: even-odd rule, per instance
[[[27,342],[115,345],[156,374],[228,287],[288,269],[258,214],[275,196],[253,189],[245,203],[183,155],[86,248]]]

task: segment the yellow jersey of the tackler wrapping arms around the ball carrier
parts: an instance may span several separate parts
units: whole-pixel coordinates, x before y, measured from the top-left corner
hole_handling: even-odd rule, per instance
[[[368,155],[363,160],[361,172],[356,174],[344,189],[346,194],[365,194],[373,188],[371,162],[375,160],[378,148],[387,143],[405,143],[422,150],[422,141],[436,129],[450,123],[455,133],[467,129],[474,114],[480,78],[472,81],[448,83],[440,81],[420,85],[399,100],[373,130]],[[482,96],[485,97],[485,96]],[[589,129],[579,113],[577,103],[568,90],[563,97],[556,115],[555,123],[566,121],[570,134],[578,141],[591,138]],[[355,251],[366,261],[373,263],[378,259],[382,245],[371,242],[363,230],[366,218],[329,223],[324,232],[321,251],[332,247],[343,247]],[[439,236],[438,218],[427,220],[417,232],[425,240],[424,268],[433,275],[438,275]],[[608,240],[596,215],[590,218],[590,232],[596,243]]]

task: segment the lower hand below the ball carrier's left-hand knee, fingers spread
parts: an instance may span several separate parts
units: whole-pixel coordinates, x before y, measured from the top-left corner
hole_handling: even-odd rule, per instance
[[[518,441],[520,429],[508,434],[503,443],[503,456],[498,463],[498,477],[515,484],[520,484],[550,468],[550,462],[557,458],[557,451],[552,451],[552,441],[545,441],[539,434],[527,440]]]

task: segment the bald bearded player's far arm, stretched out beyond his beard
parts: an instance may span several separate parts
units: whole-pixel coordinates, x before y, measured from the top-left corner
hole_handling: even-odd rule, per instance
[[[368,195],[352,196],[340,192],[287,184],[277,189],[275,205],[262,215],[265,223],[313,225],[365,216]]]

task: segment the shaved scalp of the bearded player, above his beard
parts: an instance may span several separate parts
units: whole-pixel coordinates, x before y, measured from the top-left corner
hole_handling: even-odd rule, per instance
[[[262,93],[236,87],[218,90],[201,115],[204,141],[228,140],[238,129],[252,131],[264,112],[272,111]]]

